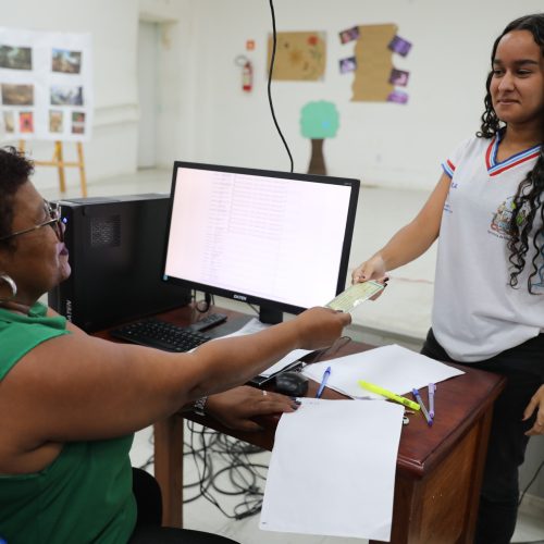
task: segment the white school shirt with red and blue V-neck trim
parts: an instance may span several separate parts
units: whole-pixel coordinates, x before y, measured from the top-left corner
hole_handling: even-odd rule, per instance
[[[432,326],[447,354],[462,362],[489,359],[544,330],[544,255],[532,279],[537,295],[531,295],[533,237],[517,288],[509,286],[507,248],[512,198],[540,146],[498,162],[498,144],[497,137],[472,137],[443,164],[452,183],[441,222]],[[533,233],[536,226],[542,227],[537,218]]]

